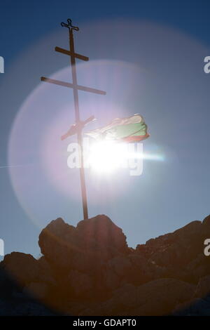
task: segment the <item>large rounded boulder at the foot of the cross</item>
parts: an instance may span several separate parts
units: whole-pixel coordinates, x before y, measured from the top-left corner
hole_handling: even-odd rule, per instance
[[[53,220],[42,230],[38,244],[53,267],[90,273],[128,251],[123,231],[103,215],[82,220],[76,228],[62,218]]]

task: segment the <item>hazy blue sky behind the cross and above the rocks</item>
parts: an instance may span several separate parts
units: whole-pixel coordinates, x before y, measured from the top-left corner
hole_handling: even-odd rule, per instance
[[[78,52],[93,60],[90,67],[84,67],[90,72],[90,84],[94,84],[91,72],[102,67],[103,77],[99,79],[96,74],[95,87],[105,88],[107,98],[88,102],[97,106],[114,103],[118,107],[106,115],[100,108],[99,123],[120,116],[121,110],[125,115],[143,112],[151,133],[145,150],[165,154],[164,162],[146,161],[139,178],[116,175],[109,183],[100,179],[99,189],[103,188],[104,194],[97,202],[95,179],[87,173],[90,215],[110,216],[123,228],[129,245],[136,246],[209,214],[210,75],[203,72],[203,59],[210,55],[209,9],[209,1],[8,0],[1,4],[0,55],[5,59],[5,73],[0,74],[0,166],[8,165],[9,154],[13,157],[18,147],[21,152],[16,152],[13,159],[24,159],[21,164],[32,162],[34,166],[30,171],[24,168],[12,173],[15,183],[7,168],[0,169],[0,237],[6,253],[24,251],[37,256],[38,234],[50,220],[62,216],[76,225],[82,218],[80,200],[72,197],[76,183],[72,181],[69,196],[60,192],[45,175],[38,150],[43,131],[56,122],[61,98],[72,102],[59,88],[37,89],[41,88],[41,75],[55,74],[67,65],[66,58],[56,55],[53,47],[67,46],[66,33],[59,23],[68,17],[80,27],[76,36]],[[121,74],[118,88],[109,83],[111,72]],[[65,77],[66,73],[62,74]],[[80,77],[87,78],[83,73]],[[126,79],[135,83],[130,95]],[[52,117],[49,111],[41,117],[41,110],[35,115],[31,104],[22,110],[34,93],[33,106],[46,99],[46,107],[54,110]],[[48,103],[50,95],[52,103]],[[22,140],[18,138],[26,123],[30,125],[33,154],[29,145],[26,149],[20,145]],[[16,135],[12,133],[14,127]],[[37,185],[30,180],[33,176],[37,177]],[[28,191],[23,187],[26,180]],[[116,188],[121,186],[123,192]]]

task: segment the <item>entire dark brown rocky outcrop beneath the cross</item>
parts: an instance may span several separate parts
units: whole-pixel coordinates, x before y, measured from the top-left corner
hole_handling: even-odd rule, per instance
[[[0,263],[1,315],[55,314],[44,305],[64,315],[208,315],[207,238],[210,216],[136,249],[104,215],[76,227],[52,220],[40,259],[13,252]]]

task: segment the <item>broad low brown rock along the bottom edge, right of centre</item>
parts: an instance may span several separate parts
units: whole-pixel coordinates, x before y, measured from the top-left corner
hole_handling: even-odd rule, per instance
[[[176,279],[158,279],[141,286],[125,284],[94,310],[94,315],[167,315],[177,303],[192,298],[195,286]]]

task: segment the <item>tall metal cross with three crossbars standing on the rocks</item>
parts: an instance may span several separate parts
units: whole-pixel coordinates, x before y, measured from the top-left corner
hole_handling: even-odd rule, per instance
[[[80,185],[81,185],[81,192],[82,192],[82,199],[83,199],[83,218],[88,219],[88,212],[87,212],[87,193],[86,193],[86,187],[85,187],[85,171],[84,171],[84,164],[83,164],[83,136],[82,136],[82,129],[84,126],[84,123],[86,124],[89,121],[92,121],[94,118],[93,116],[86,119],[85,121],[80,121],[80,112],[79,112],[79,104],[78,104],[78,90],[79,91],[86,91],[90,93],[97,93],[106,95],[106,92],[99,91],[95,88],[80,86],[77,84],[77,78],[76,78],[76,58],[79,60],[85,60],[88,61],[89,58],[86,56],[80,55],[78,53],[75,53],[74,51],[74,43],[73,43],[73,30],[78,31],[78,27],[74,27],[71,24],[71,20],[68,18],[67,23],[62,22],[62,27],[67,27],[69,29],[69,51],[66,51],[66,49],[55,47],[55,51],[69,55],[71,58],[71,72],[72,72],[72,84],[59,81],[55,79],[49,79],[45,77],[41,77],[41,81],[48,82],[50,84],[55,84],[59,86],[69,87],[73,89],[73,100],[74,100],[74,109],[75,109],[75,119],[76,119],[76,134],[78,139],[78,145],[80,145]]]

